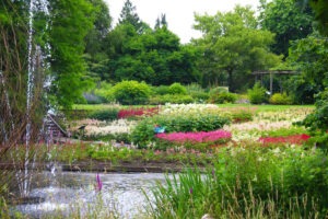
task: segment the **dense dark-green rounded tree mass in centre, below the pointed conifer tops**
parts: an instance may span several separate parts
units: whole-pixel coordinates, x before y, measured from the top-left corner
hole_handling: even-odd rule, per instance
[[[152,85],[191,83],[200,78],[198,51],[180,46],[165,25],[137,34],[133,25],[121,23],[107,37],[110,80],[145,81]]]

